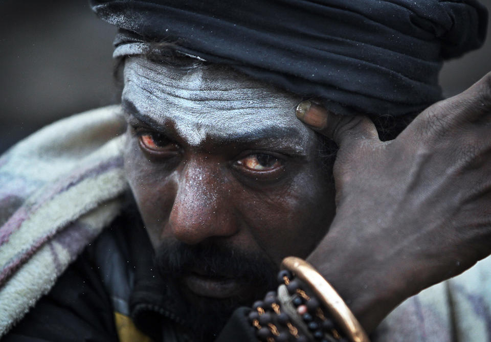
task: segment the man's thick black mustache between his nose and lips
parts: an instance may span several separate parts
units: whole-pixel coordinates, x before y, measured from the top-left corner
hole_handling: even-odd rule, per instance
[[[278,272],[278,267],[260,253],[238,250],[215,241],[196,245],[164,241],[155,252],[154,265],[166,277],[198,273],[211,278],[234,278],[244,283],[258,282],[256,285],[267,288],[276,285]]]

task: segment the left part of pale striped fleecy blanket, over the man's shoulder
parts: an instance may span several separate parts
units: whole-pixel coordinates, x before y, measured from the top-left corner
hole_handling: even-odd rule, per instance
[[[120,212],[118,107],[61,120],[0,158],[0,336]]]

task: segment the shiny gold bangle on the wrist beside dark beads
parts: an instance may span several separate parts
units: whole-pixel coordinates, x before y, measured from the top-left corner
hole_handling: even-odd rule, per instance
[[[367,333],[356,320],[341,296],[334,290],[324,277],[305,260],[287,257],[281,262],[281,268],[287,269],[304,282],[324,304],[333,320],[344,331],[346,337],[353,342],[370,342]]]

